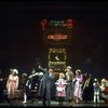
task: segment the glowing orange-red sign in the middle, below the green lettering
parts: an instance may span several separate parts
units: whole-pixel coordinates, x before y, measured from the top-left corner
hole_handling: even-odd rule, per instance
[[[46,45],[69,45],[72,31],[64,27],[50,27],[43,31],[43,43]]]

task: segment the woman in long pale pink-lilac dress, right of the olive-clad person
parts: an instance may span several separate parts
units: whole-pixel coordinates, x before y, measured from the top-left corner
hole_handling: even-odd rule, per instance
[[[75,82],[73,97],[76,103],[80,103],[80,100],[82,100],[82,81],[83,81],[83,77],[81,70],[77,69],[76,77],[73,79]]]

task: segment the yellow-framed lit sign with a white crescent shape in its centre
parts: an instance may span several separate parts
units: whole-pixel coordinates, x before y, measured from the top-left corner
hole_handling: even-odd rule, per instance
[[[49,49],[49,66],[54,66],[56,70],[64,71],[66,68],[66,49],[50,48]]]

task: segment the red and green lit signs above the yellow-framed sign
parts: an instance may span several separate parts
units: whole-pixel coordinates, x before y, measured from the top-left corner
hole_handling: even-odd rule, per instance
[[[40,27],[45,45],[69,45],[71,43],[73,19],[42,19]]]

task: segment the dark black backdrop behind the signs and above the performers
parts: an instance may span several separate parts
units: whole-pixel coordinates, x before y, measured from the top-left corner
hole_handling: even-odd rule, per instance
[[[95,78],[108,77],[107,1],[0,1],[0,68],[19,72],[37,69],[37,62],[48,66],[48,45],[37,26],[39,19],[73,18],[68,65]]]

